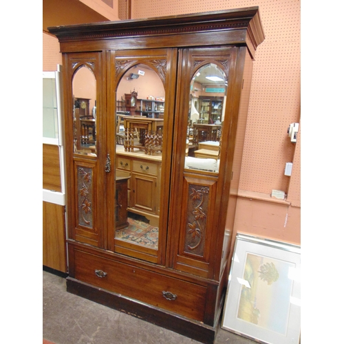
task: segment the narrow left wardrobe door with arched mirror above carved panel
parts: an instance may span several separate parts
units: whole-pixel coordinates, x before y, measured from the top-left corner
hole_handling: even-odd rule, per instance
[[[105,113],[102,54],[65,56],[65,133],[69,237],[104,247]],[[97,108],[100,105],[100,111]],[[99,112],[99,114],[98,114]]]

